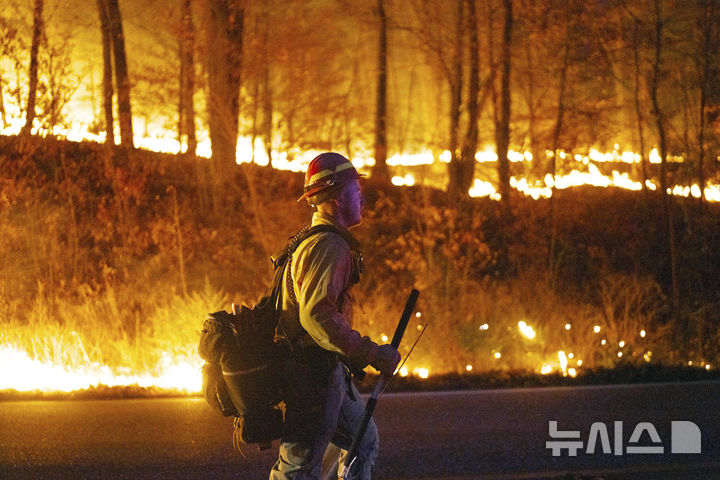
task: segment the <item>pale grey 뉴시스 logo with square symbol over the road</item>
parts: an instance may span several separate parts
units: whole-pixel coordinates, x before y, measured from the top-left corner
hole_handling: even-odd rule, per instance
[[[552,440],[545,442],[545,447],[552,450],[553,457],[560,457],[563,453],[570,457],[576,457],[578,450],[583,449],[580,430],[558,430],[557,423],[557,420],[548,422],[548,433]],[[614,455],[624,455],[625,453],[628,455],[662,455],[665,453],[665,445],[663,445],[660,435],[658,435],[657,429],[652,423],[640,422],[635,425],[627,445],[623,445],[623,426],[621,421],[613,422],[611,448],[608,426],[603,422],[593,423],[588,433],[585,453],[612,453]],[[670,431],[670,453],[702,453],[700,428],[695,423],[686,420],[673,421],[670,425]],[[643,434],[650,437],[652,445],[647,445],[647,442],[640,445]]]

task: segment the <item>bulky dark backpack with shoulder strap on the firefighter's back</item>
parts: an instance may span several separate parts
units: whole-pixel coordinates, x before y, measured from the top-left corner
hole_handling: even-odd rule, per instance
[[[245,444],[270,447],[280,438],[283,414],[281,362],[290,353],[274,343],[282,306],[285,265],[305,239],[320,232],[340,232],[330,225],[305,227],[272,259],[270,292],[253,307],[211,313],[205,319],[198,354],[205,360],[202,390],[207,403],[220,414],[234,417],[234,438]]]

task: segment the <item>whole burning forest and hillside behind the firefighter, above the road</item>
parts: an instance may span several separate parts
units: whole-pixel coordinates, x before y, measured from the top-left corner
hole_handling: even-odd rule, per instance
[[[199,392],[330,150],[406,381],[720,363],[718,2],[0,3],[0,390]]]

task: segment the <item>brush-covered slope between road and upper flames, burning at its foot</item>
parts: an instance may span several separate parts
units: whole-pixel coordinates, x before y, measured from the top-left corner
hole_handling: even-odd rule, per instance
[[[202,320],[264,293],[268,257],[310,216],[301,176],[242,165],[221,188],[203,159],[1,141],[0,390],[199,391]],[[401,349],[429,325],[400,385],[720,363],[717,205],[677,201],[677,325],[656,195],[559,192],[551,261],[547,199],[514,198],[508,220],[489,199],[366,191],[357,326],[387,341],[412,286]]]

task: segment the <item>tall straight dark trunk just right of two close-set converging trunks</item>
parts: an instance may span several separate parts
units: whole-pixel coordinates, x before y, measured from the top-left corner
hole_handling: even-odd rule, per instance
[[[503,0],[505,18],[502,45],[500,46],[500,115],[495,128],[498,155],[498,182],[503,209],[510,213],[510,162],[507,158],[510,146],[510,41],[512,37],[512,0]]]

